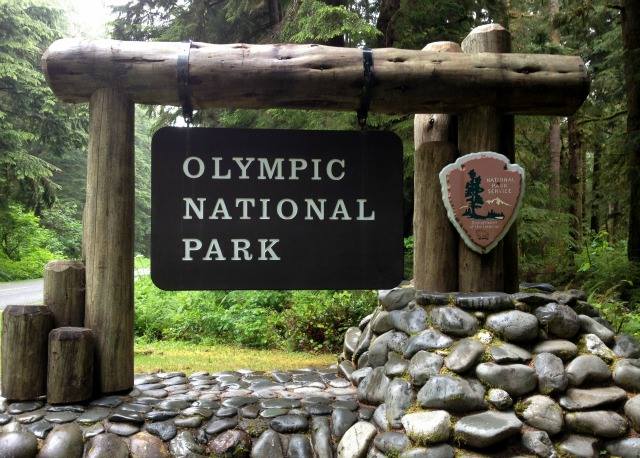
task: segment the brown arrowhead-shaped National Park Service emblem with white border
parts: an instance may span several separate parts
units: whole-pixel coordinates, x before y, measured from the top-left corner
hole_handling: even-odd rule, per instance
[[[518,215],[524,170],[502,154],[472,153],[440,171],[442,201],[469,248],[480,254],[502,240]]]

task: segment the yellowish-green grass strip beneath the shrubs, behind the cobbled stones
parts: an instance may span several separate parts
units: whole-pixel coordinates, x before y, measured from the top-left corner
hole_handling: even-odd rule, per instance
[[[256,350],[230,345],[189,342],[136,342],[136,374],[156,371],[225,371],[248,368],[256,371],[291,370],[328,366],[336,362],[328,353],[310,354],[280,350]]]

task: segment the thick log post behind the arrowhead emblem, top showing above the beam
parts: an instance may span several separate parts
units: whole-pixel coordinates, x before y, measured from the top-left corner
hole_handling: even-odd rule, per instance
[[[511,51],[511,35],[498,24],[476,27],[463,40],[462,51],[507,53]],[[513,123],[505,120],[495,107],[481,106],[461,114],[458,124],[460,155],[478,151],[504,154],[504,129],[513,129]],[[460,291],[504,291],[504,241],[485,255],[470,250],[462,239],[458,246]]]

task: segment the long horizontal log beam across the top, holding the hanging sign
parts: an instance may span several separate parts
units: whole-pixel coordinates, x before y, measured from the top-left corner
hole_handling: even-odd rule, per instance
[[[180,105],[184,43],[58,40],[42,58],[53,92],[87,102],[117,87],[137,103]],[[575,56],[463,54],[376,49],[371,111],[460,113],[478,105],[504,113],[570,115],[589,90]],[[195,108],[356,110],[362,51],[319,45],[193,43],[189,81]]]

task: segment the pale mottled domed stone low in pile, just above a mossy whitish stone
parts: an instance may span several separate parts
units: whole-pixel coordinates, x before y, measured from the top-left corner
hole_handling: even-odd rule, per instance
[[[437,375],[418,392],[418,403],[429,409],[469,412],[486,408],[484,387],[473,379]]]

